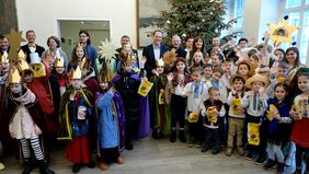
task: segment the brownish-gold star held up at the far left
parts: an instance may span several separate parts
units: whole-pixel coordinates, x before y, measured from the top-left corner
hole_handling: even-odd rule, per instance
[[[15,32],[14,30],[11,30],[11,33],[5,35],[10,42],[10,51],[8,56],[10,62],[18,58],[18,49],[21,46],[21,42],[25,42],[22,37],[22,33],[23,32]]]

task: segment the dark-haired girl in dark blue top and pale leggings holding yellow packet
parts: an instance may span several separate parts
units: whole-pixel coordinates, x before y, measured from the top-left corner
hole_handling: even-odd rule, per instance
[[[291,118],[288,114],[290,104],[286,98],[287,94],[287,84],[277,83],[275,85],[275,97],[267,101],[268,108],[265,113],[268,160],[264,165],[264,170],[273,167],[277,159],[277,173],[284,173],[285,158],[282,148],[288,142],[291,126]]]

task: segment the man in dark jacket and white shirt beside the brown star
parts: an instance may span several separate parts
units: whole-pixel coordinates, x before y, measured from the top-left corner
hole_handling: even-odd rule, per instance
[[[26,55],[26,61],[30,63],[30,54],[32,53],[37,53],[38,56],[41,57],[42,54],[44,53],[44,48],[37,44],[35,44],[35,32],[34,31],[27,31],[26,32],[26,39],[27,44],[23,45],[21,49],[24,51]]]

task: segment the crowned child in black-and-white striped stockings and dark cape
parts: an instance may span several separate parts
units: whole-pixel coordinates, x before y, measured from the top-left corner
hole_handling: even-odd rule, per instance
[[[31,146],[38,162],[39,172],[42,174],[55,174],[54,171],[48,169],[41,146],[39,137],[46,130],[44,117],[42,117],[44,113],[35,94],[22,85],[18,69],[11,74],[10,89],[10,107],[12,111],[9,114],[11,116],[9,130],[11,137],[18,139],[21,144],[21,152],[25,161],[23,173],[32,171]]]

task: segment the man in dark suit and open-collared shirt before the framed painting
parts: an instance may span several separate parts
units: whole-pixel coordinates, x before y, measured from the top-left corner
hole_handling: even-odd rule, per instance
[[[163,57],[163,54],[169,50],[169,48],[162,45],[163,33],[160,30],[156,30],[152,33],[152,44],[146,46],[142,49],[142,57],[147,59],[145,63],[145,69],[147,71],[147,78],[150,79],[153,74],[157,74],[156,71],[156,61]]]

